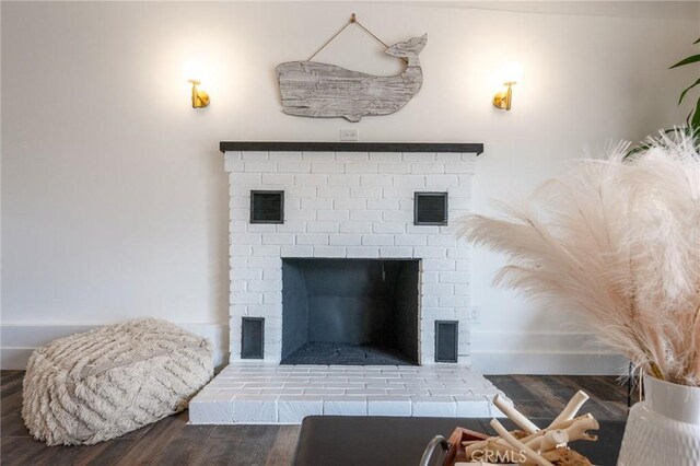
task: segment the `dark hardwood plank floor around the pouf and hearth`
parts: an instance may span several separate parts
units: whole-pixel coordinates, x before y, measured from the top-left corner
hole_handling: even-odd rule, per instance
[[[22,409],[22,371],[0,372],[2,465],[289,465],[296,426],[187,426],[187,411],[119,439],[89,446],[46,446],[30,436]],[[627,391],[615,377],[488,376],[529,417],[553,417],[578,391],[590,396],[583,411],[625,419]]]

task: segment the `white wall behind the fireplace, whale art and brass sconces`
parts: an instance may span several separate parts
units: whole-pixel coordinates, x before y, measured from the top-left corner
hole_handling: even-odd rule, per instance
[[[489,212],[490,198],[526,194],[586,144],[681,123],[688,108],[676,107],[677,94],[693,75],[667,67],[693,51],[700,4],[640,14],[623,3],[606,16],[594,7],[581,15],[406,3],[2,2],[2,366],[21,366],[28,349],[57,335],[139,316],[200,330],[224,351],[220,140],[334,141],[339,128],[357,127],[363,141],[483,142],[474,205]],[[428,32],[420,94],[359,124],[283,115],[275,66],[307,58],[351,12],[387,43]],[[208,71],[205,110],[189,107],[180,72],[192,57]],[[398,69],[358,30],[317,59]],[[490,104],[508,59],[525,68],[510,113]],[[499,264],[475,254],[477,366],[617,368],[585,348],[585,335],[562,334],[564,317],[494,289]]]

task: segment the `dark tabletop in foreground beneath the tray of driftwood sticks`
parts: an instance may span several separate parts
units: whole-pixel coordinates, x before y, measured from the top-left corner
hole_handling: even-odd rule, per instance
[[[515,429],[508,419],[499,419]],[[456,427],[493,434],[490,419],[310,416],[302,422],[294,466],[418,465],[428,442],[448,438]],[[547,426],[551,419],[533,419]],[[598,421],[597,442],[570,444],[595,465],[615,465],[623,421]]]

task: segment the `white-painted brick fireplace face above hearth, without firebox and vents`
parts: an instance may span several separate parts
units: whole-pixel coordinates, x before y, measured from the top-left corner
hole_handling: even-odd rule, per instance
[[[264,360],[280,362],[282,258],[323,257],[420,259],[419,362],[435,362],[435,321],[456,321],[458,362],[468,363],[469,247],[457,238],[455,225],[469,211],[476,153],[458,151],[470,145],[432,144],[433,151],[420,152],[411,144],[404,144],[411,152],[347,152],[348,144],[338,145],[343,151],[225,151],[231,361],[242,358],[242,318],[262,317]],[[283,224],[249,222],[252,190],[284,191]],[[413,195],[421,191],[448,193],[447,226],[413,224]]]

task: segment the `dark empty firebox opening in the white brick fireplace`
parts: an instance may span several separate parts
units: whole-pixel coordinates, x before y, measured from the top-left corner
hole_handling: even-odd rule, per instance
[[[282,364],[418,364],[419,260],[282,260]]]

